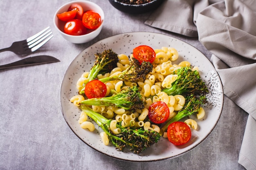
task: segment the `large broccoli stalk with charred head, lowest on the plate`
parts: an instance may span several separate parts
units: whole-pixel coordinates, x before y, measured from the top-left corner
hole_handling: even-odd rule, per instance
[[[123,128],[119,124],[117,124],[117,128],[121,129],[121,133],[115,135],[110,130],[112,119],[107,119],[86,105],[81,105],[81,109],[106,132],[109,141],[115,148],[121,151],[129,147],[132,152],[139,154],[141,151],[157,143],[160,139],[159,133],[153,130],[133,129],[130,127]]]

